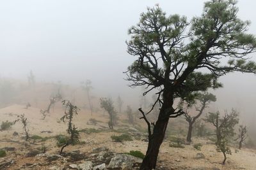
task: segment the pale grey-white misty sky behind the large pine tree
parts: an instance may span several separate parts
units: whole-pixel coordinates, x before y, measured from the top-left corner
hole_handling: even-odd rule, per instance
[[[135,59],[126,52],[127,29],[138,23],[147,6],[159,4],[168,15],[188,19],[202,13],[204,1],[0,1],[0,75],[26,80],[30,70],[37,81],[79,84],[90,79],[104,95],[138,97],[124,80]],[[256,34],[255,1],[240,0],[239,16],[251,20]],[[255,54],[253,54],[255,55]],[[255,57],[256,58],[256,57]],[[230,74],[221,78],[213,108],[255,110],[256,77]],[[150,97],[151,99],[151,97]],[[125,99],[124,99],[125,100]]]

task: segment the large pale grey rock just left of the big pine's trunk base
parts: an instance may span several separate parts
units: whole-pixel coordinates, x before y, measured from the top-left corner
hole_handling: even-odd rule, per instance
[[[118,154],[111,159],[108,164],[108,169],[134,169],[133,164],[141,162],[142,159],[133,157],[131,155]]]

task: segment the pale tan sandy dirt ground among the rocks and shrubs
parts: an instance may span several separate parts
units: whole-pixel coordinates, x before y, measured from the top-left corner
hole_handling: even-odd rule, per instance
[[[29,134],[39,135],[42,137],[55,136],[56,134],[66,134],[67,124],[60,121],[60,117],[63,115],[63,108],[56,107],[54,111],[51,111],[49,115],[42,120],[39,108],[24,109],[21,105],[12,105],[0,110],[1,122],[5,120],[13,121],[17,118],[17,115],[24,113],[28,117],[29,122]],[[88,125],[86,122],[90,118],[99,120],[97,125]],[[120,116],[120,120],[124,120],[125,115]],[[90,111],[81,110],[79,115],[74,118],[74,124],[79,129],[94,128],[94,129],[107,129],[108,127],[108,115],[106,113],[93,113],[90,115]],[[120,121],[122,122],[122,121]],[[144,124],[141,122],[141,124]],[[125,123],[119,124],[118,128]],[[126,124],[127,126],[128,124]],[[42,131],[51,131],[42,132]],[[13,136],[13,132],[18,132],[19,136]],[[119,132],[106,130],[99,133],[81,133],[81,141],[84,141],[83,145],[67,146],[65,152],[72,150],[81,150],[82,152],[91,152],[93,148],[99,146],[106,146],[111,151],[116,153],[129,152],[130,150],[140,150],[145,153],[147,149],[147,142],[136,140],[125,141],[123,143],[114,143],[110,136],[113,134],[119,134]],[[24,133],[22,131],[22,125],[18,122],[13,125],[10,130],[0,131],[0,148],[15,147],[15,152],[7,152],[6,157],[0,158],[0,162],[4,160],[13,159],[14,163],[6,169],[20,169],[24,164],[35,164],[38,162],[34,157],[24,157],[28,150],[31,148],[46,146],[47,153],[58,153],[60,148],[56,146],[56,139],[51,138],[46,141],[29,141],[25,142],[22,138]],[[206,139],[194,138],[194,143],[202,143],[202,150],[198,151],[193,148],[193,145],[185,145],[185,148],[172,148],[169,146],[169,141],[164,141],[159,152],[159,160],[157,162],[158,169],[256,169],[256,150],[250,150],[242,148],[239,152],[235,152],[236,148],[232,149],[232,155],[228,155],[227,164],[223,166],[220,164],[223,159],[222,153],[218,153],[215,150],[215,146]],[[203,153],[204,159],[196,159],[196,153]],[[41,167],[40,169],[47,169],[49,166]],[[33,168],[31,168],[33,169]]]

